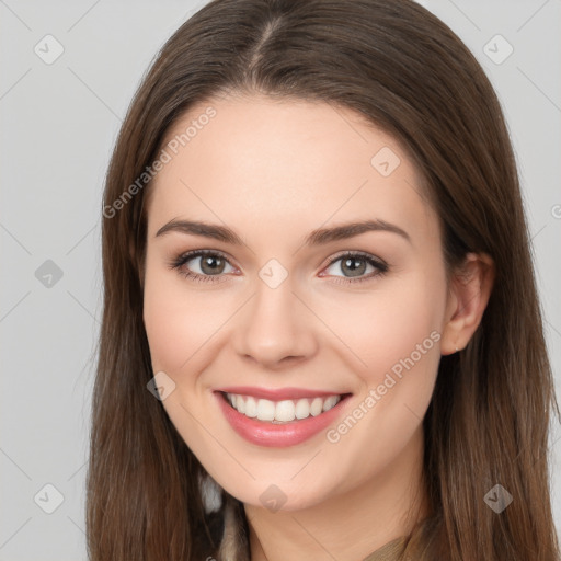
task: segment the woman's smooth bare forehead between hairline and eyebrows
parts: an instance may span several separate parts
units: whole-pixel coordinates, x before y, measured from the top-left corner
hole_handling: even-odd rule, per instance
[[[286,237],[370,218],[435,233],[410,158],[348,108],[211,99],[174,123],[163,152],[168,162],[149,187],[149,236],[173,218],[221,221],[248,236],[253,224]]]

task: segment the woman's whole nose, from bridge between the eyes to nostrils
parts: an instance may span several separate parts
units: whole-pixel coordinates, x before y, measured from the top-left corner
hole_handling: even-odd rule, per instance
[[[316,347],[310,312],[294,294],[288,272],[280,267],[278,262],[262,267],[238,327],[237,351],[267,366],[285,357],[307,356]]]

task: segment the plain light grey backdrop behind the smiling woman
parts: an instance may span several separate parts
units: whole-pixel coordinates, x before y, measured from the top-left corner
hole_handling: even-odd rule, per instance
[[[142,73],[163,42],[204,3],[0,0],[2,561],[85,559],[103,178]],[[503,103],[559,394],[561,0],[422,3],[471,48]],[[64,48],[51,64],[44,59],[56,55],[57,44],[44,39],[48,34]],[[514,51],[502,60],[508,45]],[[45,264],[48,260],[56,265]],[[558,528],[559,438],[556,424],[551,469]]]

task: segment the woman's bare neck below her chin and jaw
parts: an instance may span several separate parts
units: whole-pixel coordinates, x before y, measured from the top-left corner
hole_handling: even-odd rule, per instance
[[[252,561],[356,561],[411,533],[428,514],[422,425],[385,470],[352,491],[307,508],[245,505]]]

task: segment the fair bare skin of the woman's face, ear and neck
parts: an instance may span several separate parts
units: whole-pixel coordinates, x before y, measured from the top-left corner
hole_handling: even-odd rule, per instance
[[[208,105],[216,116],[150,186],[144,319],[153,371],[175,383],[162,403],[208,473],[244,503],[252,560],[363,559],[428,514],[422,419],[440,355],[462,348],[481,320],[492,262],[469,254],[462,274],[448,279],[417,171],[359,114],[230,95],[191,107],[169,139]],[[370,163],[383,147],[401,161],[388,176]],[[244,244],[156,236],[173,219],[227,225]],[[302,245],[317,228],[366,219],[396,225],[410,240],[369,231]],[[228,259],[220,282],[169,266],[199,249]],[[337,283],[353,278],[344,260],[329,264],[344,251],[368,253],[389,270]],[[276,288],[259,276],[271,259],[288,275]],[[204,274],[202,261],[182,271]],[[362,277],[373,273],[367,265]],[[228,385],[351,392],[348,414],[432,332],[439,340],[336,443],[323,431],[296,446],[256,446],[230,427],[213,394]],[[276,512],[260,500],[271,484],[285,500]]]

